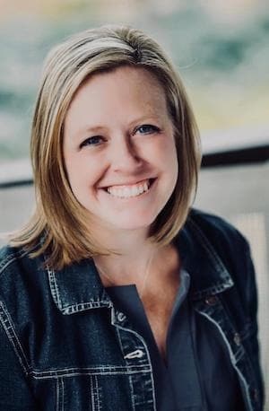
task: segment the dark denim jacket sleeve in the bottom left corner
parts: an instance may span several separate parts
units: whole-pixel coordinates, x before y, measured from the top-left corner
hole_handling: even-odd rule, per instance
[[[26,374],[0,323],[0,409],[38,410]]]

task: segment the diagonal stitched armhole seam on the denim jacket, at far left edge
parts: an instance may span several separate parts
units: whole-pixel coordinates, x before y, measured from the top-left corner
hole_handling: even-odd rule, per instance
[[[13,326],[13,321],[9,316],[9,313],[7,310],[4,309],[4,304],[3,302],[0,302],[0,320],[3,324],[4,331],[10,340],[11,344],[13,345],[13,350],[15,354],[17,355],[21,365],[22,369],[25,372],[26,375],[30,373],[30,365],[27,362],[26,355],[23,352],[22,345],[20,343],[19,338],[17,337],[15,333],[15,329]]]

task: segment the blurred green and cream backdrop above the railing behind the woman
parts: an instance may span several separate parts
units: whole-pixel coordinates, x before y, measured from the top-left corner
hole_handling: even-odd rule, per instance
[[[265,0],[0,0],[0,161],[28,155],[49,48],[107,22],[147,31],[172,55],[202,132],[268,127]]]

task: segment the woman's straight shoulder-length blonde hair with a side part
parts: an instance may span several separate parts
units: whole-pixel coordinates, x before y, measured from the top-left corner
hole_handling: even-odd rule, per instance
[[[114,252],[98,244],[86,228],[86,210],[74,197],[65,172],[63,125],[82,82],[91,74],[123,65],[143,67],[157,77],[175,129],[178,181],[152,223],[149,240],[169,244],[186,221],[201,159],[195,118],[176,69],[160,45],[143,31],[126,26],[82,31],[48,55],[31,130],[36,209],[29,223],[11,237],[13,246],[34,246],[32,257],[44,253],[49,267],[60,269],[73,261]]]

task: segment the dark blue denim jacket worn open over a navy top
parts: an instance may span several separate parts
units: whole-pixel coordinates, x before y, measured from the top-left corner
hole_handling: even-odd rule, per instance
[[[192,210],[173,242],[191,275],[196,315],[213,322],[229,350],[246,410],[262,410],[247,241]],[[0,387],[7,411],[156,410],[148,347],[113,306],[92,260],[53,271],[11,247],[0,253]]]

